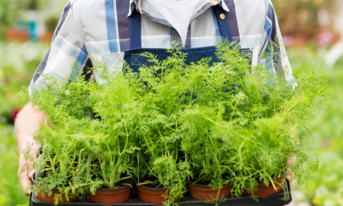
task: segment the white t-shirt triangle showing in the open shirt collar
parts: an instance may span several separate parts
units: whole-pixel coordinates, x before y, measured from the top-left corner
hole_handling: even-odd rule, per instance
[[[189,21],[200,0],[148,0],[180,34],[185,46]]]

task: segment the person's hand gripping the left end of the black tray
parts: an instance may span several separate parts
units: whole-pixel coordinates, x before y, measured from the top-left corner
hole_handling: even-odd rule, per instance
[[[39,145],[34,145],[31,148],[31,151],[29,152],[30,155],[32,155],[33,159],[36,160],[38,158],[38,150],[41,148]],[[24,165],[29,165],[29,168],[26,168],[24,172],[20,173],[18,172],[18,178],[21,183],[21,187],[23,188],[23,192],[26,196],[29,196],[31,194],[31,177],[34,174],[34,163],[28,159],[25,159],[25,156],[23,154],[20,155],[19,158],[19,171],[21,168],[23,168]]]

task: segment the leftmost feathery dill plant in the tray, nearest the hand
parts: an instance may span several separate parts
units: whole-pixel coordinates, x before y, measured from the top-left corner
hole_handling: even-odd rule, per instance
[[[83,176],[87,156],[78,133],[83,125],[88,125],[84,118],[85,113],[93,113],[89,110],[92,102],[87,98],[90,87],[86,87],[84,77],[80,76],[80,67],[76,63],[69,75],[69,81],[59,82],[49,75],[45,75],[45,79],[43,88],[34,89],[32,96],[25,92],[27,88],[24,88],[19,97],[32,101],[36,112],[46,113],[49,117],[34,137],[35,143],[41,144],[44,152],[43,159],[39,159],[35,164],[35,190],[51,196],[52,190],[58,188],[61,192],[55,195],[58,203],[62,196],[65,196],[67,201],[78,195],[84,196],[82,188],[86,186]],[[30,146],[25,152],[29,149]],[[25,157],[32,159],[27,154]],[[26,168],[28,166],[25,165]]]

